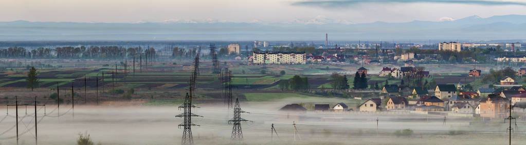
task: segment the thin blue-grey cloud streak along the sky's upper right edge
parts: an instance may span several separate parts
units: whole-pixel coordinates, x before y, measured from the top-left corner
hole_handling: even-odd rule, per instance
[[[475,5],[519,5],[526,6],[523,2],[512,2],[512,1],[456,1],[456,0],[341,0],[341,1],[302,1],[295,2],[291,5],[296,6],[315,6],[315,7],[345,7],[359,4],[371,4],[371,3],[438,3],[438,4],[475,4]]]

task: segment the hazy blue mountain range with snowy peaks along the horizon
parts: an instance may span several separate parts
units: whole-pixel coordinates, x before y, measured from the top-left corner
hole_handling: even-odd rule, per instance
[[[526,15],[470,16],[441,22],[144,23],[0,22],[0,41],[22,40],[526,40]]]

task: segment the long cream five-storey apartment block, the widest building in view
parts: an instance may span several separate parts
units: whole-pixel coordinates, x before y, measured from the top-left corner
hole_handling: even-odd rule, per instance
[[[305,64],[305,53],[298,52],[254,52],[253,64]]]

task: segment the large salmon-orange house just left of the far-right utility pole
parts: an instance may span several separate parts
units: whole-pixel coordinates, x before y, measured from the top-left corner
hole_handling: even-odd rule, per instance
[[[505,118],[508,116],[509,99],[490,94],[480,100],[480,116],[490,118]]]

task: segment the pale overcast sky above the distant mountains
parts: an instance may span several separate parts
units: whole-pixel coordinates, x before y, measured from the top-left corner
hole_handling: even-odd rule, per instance
[[[0,21],[369,23],[526,15],[524,1],[1,0]]]

